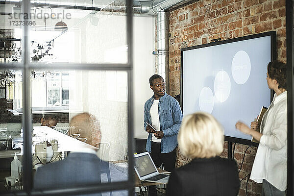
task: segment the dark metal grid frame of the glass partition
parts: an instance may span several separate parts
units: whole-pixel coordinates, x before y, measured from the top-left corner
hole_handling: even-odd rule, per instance
[[[24,13],[30,13],[30,0],[21,1],[21,6],[24,10]],[[115,190],[128,190],[128,195],[133,196],[134,194],[134,139],[133,139],[133,61],[132,61],[132,0],[126,0],[126,40],[128,46],[128,62],[124,64],[116,63],[100,63],[100,64],[86,64],[86,63],[54,63],[52,65],[52,70],[95,70],[95,71],[106,71],[106,70],[119,70],[127,72],[127,133],[128,133],[128,180],[120,182],[111,182],[103,184],[92,184],[87,186],[79,187],[68,187],[66,189],[52,189],[45,190],[42,192],[36,191],[33,189],[32,182],[33,176],[31,172],[32,167],[32,121],[31,121],[31,102],[30,102],[30,70],[33,69],[46,69],[47,65],[45,63],[31,63],[30,62],[30,41],[29,41],[29,26],[22,26],[24,32],[24,39],[22,42],[23,48],[23,59],[20,64],[12,63],[0,63],[0,68],[2,69],[20,69],[23,72],[23,127],[24,127],[24,156],[23,156],[23,166],[24,166],[24,189],[22,192],[17,194],[21,195],[75,195],[75,194],[89,194],[89,193],[98,193],[106,191],[115,191]],[[29,22],[28,18],[24,18],[24,22]],[[15,195],[15,193],[9,193],[7,195]]]

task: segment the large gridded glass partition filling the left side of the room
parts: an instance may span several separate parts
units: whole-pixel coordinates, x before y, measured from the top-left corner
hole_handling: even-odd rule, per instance
[[[105,194],[131,189],[126,1],[7,2],[0,4],[0,98],[7,100],[0,193],[118,182],[103,185],[113,190]],[[8,182],[15,152],[18,176]]]

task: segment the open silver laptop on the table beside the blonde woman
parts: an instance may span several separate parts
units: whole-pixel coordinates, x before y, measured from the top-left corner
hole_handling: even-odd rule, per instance
[[[169,174],[159,173],[149,152],[136,154],[135,171],[141,181],[167,184],[169,182]]]

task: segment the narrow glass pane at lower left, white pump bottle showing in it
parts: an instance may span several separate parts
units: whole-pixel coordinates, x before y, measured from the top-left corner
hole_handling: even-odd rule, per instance
[[[22,190],[23,184],[22,112],[18,111],[23,101],[22,72],[0,70],[0,78],[4,87],[0,94],[0,193],[9,193]],[[13,160],[14,153],[18,160]]]

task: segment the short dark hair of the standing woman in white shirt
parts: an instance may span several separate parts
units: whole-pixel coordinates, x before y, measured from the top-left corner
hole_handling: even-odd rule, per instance
[[[268,64],[268,74],[271,79],[277,80],[279,89],[287,90],[287,65],[279,61],[271,61]]]

